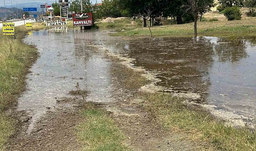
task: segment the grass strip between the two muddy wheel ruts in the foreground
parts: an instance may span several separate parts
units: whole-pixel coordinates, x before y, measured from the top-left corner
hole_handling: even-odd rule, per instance
[[[87,103],[81,112],[86,120],[76,127],[83,151],[129,151],[123,145],[125,136],[109,118],[108,112],[93,103]]]

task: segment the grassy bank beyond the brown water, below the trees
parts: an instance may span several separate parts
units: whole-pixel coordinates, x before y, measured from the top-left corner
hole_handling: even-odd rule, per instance
[[[202,21],[197,24],[198,36],[245,36],[256,34],[256,19],[243,19],[238,21]],[[153,36],[192,37],[194,23],[182,25],[165,25],[151,27]],[[113,34],[114,36],[150,36],[148,28],[129,27],[125,31]]]

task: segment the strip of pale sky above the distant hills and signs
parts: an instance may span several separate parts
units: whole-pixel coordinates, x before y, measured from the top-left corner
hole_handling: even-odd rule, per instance
[[[12,4],[13,7],[16,6],[16,2],[18,5],[20,5],[20,4],[24,5],[24,3],[29,3],[29,2],[40,2],[42,4],[44,4],[46,2],[48,2],[49,4],[52,4],[53,2],[55,2],[55,0],[12,0],[12,3],[11,3],[11,0],[0,0],[1,7],[4,7],[4,1],[5,1],[6,6],[9,6]],[[71,0],[69,0],[69,1],[71,1]],[[99,2],[99,1],[100,0],[97,0],[97,2]],[[57,0],[57,2],[58,2],[58,0]],[[96,0],[91,0],[91,2],[93,4],[95,4]]]

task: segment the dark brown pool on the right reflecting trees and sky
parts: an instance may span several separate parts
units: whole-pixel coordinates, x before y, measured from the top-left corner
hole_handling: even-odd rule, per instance
[[[171,93],[200,94],[195,101],[216,110],[250,121],[256,116],[256,37],[96,40],[135,58],[135,66],[157,74],[157,85]]]

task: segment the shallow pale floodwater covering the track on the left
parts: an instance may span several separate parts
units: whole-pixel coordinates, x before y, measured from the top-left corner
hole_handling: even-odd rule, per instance
[[[115,77],[109,73],[111,62],[87,48],[95,36],[94,32],[41,30],[24,39],[40,53],[28,75],[28,91],[18,101],[18,110],[26,110],[32,117],[28,133],[43,114],[59,105],[58,98],[73,97],[68,93],[77,90],[77,85],[89,92],[87,100],[95,102],[115,102],[125,96],[126,90],[117,89]]]

